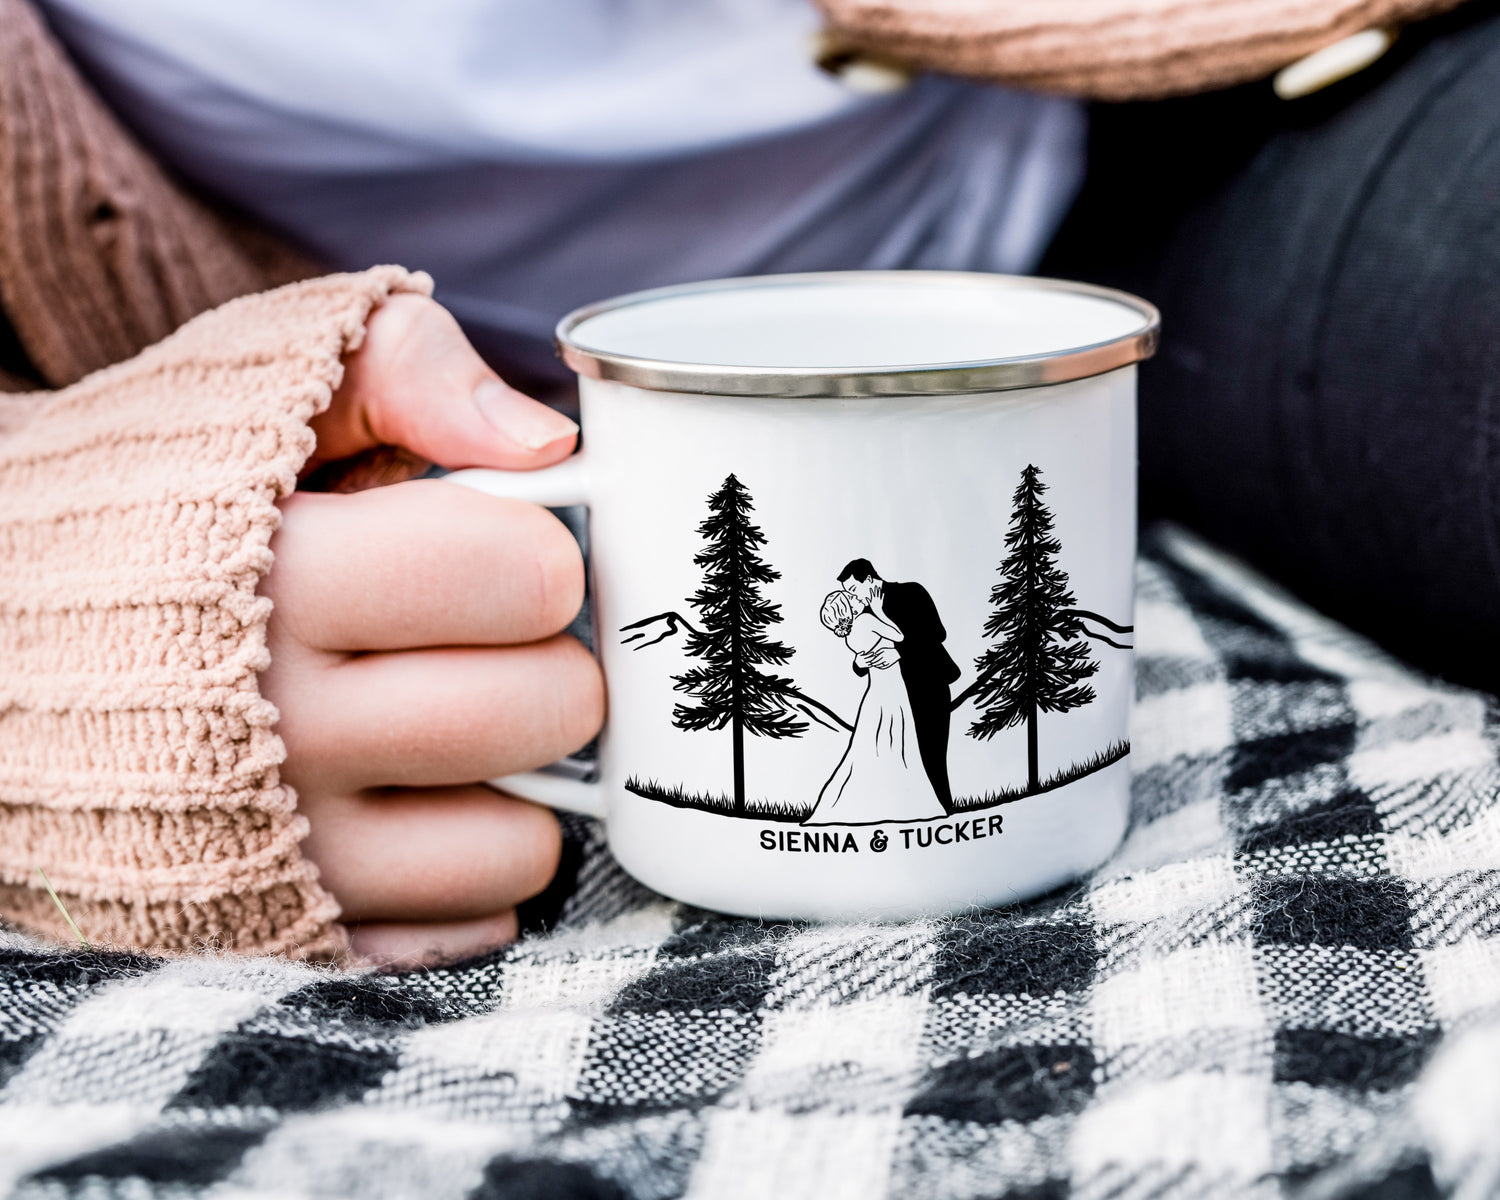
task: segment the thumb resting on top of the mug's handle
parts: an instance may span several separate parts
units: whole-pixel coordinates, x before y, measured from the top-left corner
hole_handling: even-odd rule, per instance
[[[572,420],[507,386],[423,296],[393,296],[370,314],[312,430],[314,466],[399,446],[440,466],[525,471],[566,459],[578,441]]]

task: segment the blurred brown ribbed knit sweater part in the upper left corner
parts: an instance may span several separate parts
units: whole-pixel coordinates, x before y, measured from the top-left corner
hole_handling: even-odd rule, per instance
[[[316,273],[170,178],[36,10],[0,0],[0,306],[45,382],[70,384],[214,304]]]

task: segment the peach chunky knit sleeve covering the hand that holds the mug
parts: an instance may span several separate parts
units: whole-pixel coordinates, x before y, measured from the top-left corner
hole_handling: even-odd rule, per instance
[[[276,500],[396,267],[232,300],[62,392],[0,396],[0,915],[90,942],[336,956],[280,783]]]

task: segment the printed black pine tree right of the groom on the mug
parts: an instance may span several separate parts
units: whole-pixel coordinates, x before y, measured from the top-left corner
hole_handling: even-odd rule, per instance
[[[984,622],[986,638],[1004,640],[974,660],[981,717],[969,728],[970,736],[988,740],[1026,722],[1026,788],[1032,792],[1041,786],[1036,714],[1089,704],[1094,688],[1083,681],[1100,669],[1071,612],[1068,576],[1056,562],[1062,543],[1053,537],[1052,513],[1041,501],[1046,490],[1036,466],[1022,471],[1005,534],[1008,554],[999,566],[1000,582],[990,591],[994,610]]]

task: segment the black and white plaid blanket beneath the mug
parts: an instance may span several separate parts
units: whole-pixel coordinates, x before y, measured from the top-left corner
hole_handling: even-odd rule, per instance
[[[447,970],[0,934],[0,1192],[1494,1194],[1494,704],[1170,530],[1137,628],[1130,836],[1020,908],[729,920],[580,824],[555,928]]]

